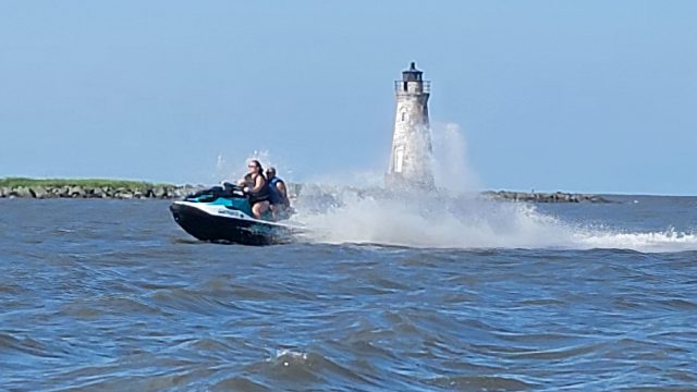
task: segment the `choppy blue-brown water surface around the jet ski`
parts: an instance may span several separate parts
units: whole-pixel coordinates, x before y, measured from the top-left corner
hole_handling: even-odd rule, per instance
[[[688,390],[697,199],[622,201],[247,247],[162,201],[0,200],[0,389]]]

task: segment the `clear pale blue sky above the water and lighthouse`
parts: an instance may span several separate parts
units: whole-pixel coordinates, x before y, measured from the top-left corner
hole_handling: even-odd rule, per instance
[[[697,195],[697,1],[658,0],[0,0],[0,176],[380,172],[409,61],[486,188]]]

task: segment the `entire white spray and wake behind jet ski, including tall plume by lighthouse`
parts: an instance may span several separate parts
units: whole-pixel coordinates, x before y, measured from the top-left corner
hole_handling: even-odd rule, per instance
[[[310,228],[309,241],[444,248],[697,249],[694,233],[613,232],[564,222],[533,205],[482,199],[476,194],[479,181],[467,163],[465,138],[457,125],[436,126],[432,135],[436,181],[447,193],[308,187],[297,200],[296,219]],[[364,183],[382,182],[382,173],[372,175]]]

